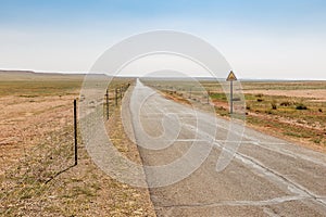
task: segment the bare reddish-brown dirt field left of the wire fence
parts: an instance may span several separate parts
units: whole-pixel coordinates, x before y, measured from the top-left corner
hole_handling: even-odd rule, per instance
[[[74,95],[0,98],[0,175],[49,132],[73,123],[73,99]]]

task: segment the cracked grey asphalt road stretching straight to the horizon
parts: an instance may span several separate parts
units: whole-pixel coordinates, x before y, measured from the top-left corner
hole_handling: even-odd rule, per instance
[[[158,216],[326,216],[325,154],[249,128],[241,139],[236,127],[241,145],[217,171],[222,150],[237,142],[225,142],[227,120],[139,81],[129,107]]]

